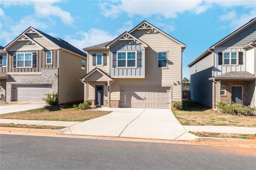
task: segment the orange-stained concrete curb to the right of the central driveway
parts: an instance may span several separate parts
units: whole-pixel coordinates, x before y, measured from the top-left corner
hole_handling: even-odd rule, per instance
[[[255,145],[255,147],[256,147],[256,140],[249,140],[249,139],[199,137],[199,138],[196,138],[191,141],[219,142],[219,143],[233,143],[233,144],[252,144],[252,145]]]

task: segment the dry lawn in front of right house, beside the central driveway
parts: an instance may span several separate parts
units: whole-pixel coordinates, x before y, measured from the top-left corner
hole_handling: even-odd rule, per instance
[[[218,113],[194,101],[183,101],[183,110],[172,110],[182,125],[256,127],[256,116]]]

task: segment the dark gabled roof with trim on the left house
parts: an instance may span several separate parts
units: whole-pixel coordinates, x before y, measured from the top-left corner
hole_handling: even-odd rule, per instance
[[[32,41],[36,45],[39,45],[41,49],[44,49],[44,47],[42,45],[40,45],[39,43],[35,42],[34,40],[29,38],[28,36],[26,36],[26,33],[37,33],[37,34],[40,34],[42,37],[46,38],[46,40],[50,41],[50,43],[54,44],[58,49],[60,49],[60,48],[66,49],[66,50],[71,51],[73,53],[76,53],[78,55],[82,55],[84,57],[87,57],[86,53],[84,53],[83,51],[77,49],[76,47],[74,47],[70,43],[68,43],[68,42],[66,42],[66,41],[64,41],[64,40],[62,40],[60,38],[54,38],[54,37],[52,37],[52,36],[50,36],[48,34],[45,34],[44,32],[41,32],[40,30],[37,30],[37,29],[31,27],[31,26],[28,29],[26,29],[24,32],[22,32],[22,34],[20,34],[12,42],[10,42],[8,45],[6,45],[6,47],[4,47],[4,50],[6,50],[6,48],[10,47],[12,44],[14,44],[19,39]]]

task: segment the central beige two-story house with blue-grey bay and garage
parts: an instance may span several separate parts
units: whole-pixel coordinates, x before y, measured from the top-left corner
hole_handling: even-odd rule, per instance
[[[84,100],[108,107],[168,108],[182,102],[186,45],[143,21],[111,42],[84,48]]]

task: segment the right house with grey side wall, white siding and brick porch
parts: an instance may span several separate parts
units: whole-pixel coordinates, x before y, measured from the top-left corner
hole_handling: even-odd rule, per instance
[[[199,55],[190,67],[190,99],[256,106],[256,18]]]

